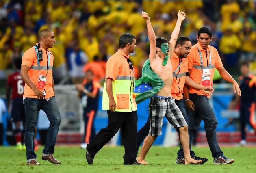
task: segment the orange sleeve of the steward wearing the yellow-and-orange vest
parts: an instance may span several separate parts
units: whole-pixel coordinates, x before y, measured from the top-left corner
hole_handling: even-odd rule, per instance
[[[119,74],[121,62],[117,61],[116,58],[109,58],[106,63],[106,79],[112,78],[115,80]]]

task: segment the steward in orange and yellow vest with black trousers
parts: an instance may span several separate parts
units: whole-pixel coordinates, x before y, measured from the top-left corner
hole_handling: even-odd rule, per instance
[[[135,36],[125,33],[119,39],[119,50],[106,63],[106,80],[102,96],[102,109],[107,110],[108,126],[102,128],[87,144],[85,154],[88,164],[93,164],[94,156],[108,143],[121,128],[124,139],[124,164],[140,164],[138,154],[137,105],[133,94],[134,70],[129,54],[136,48]]]

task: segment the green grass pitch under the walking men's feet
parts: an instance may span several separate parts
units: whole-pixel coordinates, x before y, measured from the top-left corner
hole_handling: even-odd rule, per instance
[[[178,147],[153,146],[146,157],[150,165],[123,165],[124,147],[103,147],[88,165],[85,151],[74,146],[56,146],[54,156],[60,165],[41,159],[43,147],[36,151],[38,166],[26,165],[26,151],[16,151],[16,147],[0,147],[0,173],[132,173],[132,172],[216,172],[249,173],[256,172],[256,147],[221,147],[225,156],[234,158],[233,164],[214,165],[208,147],[193,147],[196,156],[208,158],[204,165],[175,164]]]

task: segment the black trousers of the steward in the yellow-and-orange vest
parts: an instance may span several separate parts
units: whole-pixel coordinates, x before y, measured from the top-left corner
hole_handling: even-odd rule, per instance
[[[137,138],[137,113],[133,112],[111,112],[108,110],[108,127],[101,129],[96,137],[87,145],[87,151],[95,156],[108,141],[115,136],[121,128],[124,139],[125,158],[124,164],[136,162],[138,149]]]

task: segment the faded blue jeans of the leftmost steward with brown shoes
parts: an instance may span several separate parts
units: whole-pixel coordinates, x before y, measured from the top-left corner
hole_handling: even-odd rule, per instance
[[[51,97],[49,101],[46,101],[46,99],[26,98],[24,99],[23,103],[26,115],[25,145],[27,159],[37,158],[37,155],[34,152],[34,134],[35,128],[37,127],[37,118],[40,109],[46,113],[50,121],[43,153],[53,154],[59,126],[61,123],[59,105],[55,99],[55,96]]]

